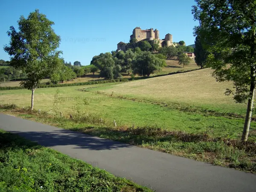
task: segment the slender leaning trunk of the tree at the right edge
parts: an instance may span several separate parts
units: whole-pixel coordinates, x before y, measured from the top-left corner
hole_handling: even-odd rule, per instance
[[[244,130],[242,134],[242,141],[247,141],[249,129],[250,129],[250,121],[253,112],[253,99],[254,99],[254,90],[255,90],[255,69],[251,68],[251,82],[250,82],[250,96],[248,99],[247,111],[244,122]]]

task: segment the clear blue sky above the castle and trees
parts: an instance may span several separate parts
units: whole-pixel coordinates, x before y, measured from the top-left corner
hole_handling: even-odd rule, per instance
[[[116,50],[120,41],[128,43],[136,26],[157,28],[161,39],[170,33],[173,41],[189,45],[194,44],[193,27],[198,24],[191,14],[194,0],[2,0],[0,4],[0,59],[4,60],[9,60],[3,51],[9,43],[9,27],[17,29],[20,16],[35,9],[55,22],[65,61],[82,65],[90,64],[94,55]]]

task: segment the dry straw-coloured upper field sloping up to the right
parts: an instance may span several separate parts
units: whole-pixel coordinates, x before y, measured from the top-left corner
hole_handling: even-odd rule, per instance
[[[130,98],[153,99],[200,106],[215,111],[245,113],[245,104],[236,104],[232,96],[225,96],[231,82],[216,82],[211,69],[203,69],[170,76],[126,82],[111,87],[100,87],[93,91],[104,91]]]

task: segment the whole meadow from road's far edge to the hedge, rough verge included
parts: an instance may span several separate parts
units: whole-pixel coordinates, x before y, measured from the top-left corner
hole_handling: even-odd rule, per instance
[[[232,83],[216,82],[211,72],[203,69],[128,82],[38,88],[34,112],[26,108],[31,101],[29,90],[2,90],[0,104],[16,104],[20,108],[3,105],[0,110],[60,128],[256,173],[256,121],[251,122],[249,143],[244,145],[239,140],[246,105],[225,96],[225,89]],[[89,105],[84,105],[83,99]]]

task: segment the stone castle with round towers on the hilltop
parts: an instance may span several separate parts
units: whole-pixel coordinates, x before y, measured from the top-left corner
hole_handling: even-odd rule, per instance
[[[140,29],[140,27],[136,27],[132,35],[130,36],[131,39],[136,39],[137,42],[140,41],[155,41],[154,43],[159,44],[159,47],[169,47],[169,46],[174,46],[172,42],[172,35],[171,34],[166,34],[164,39],[159,38],[159,31],[157,29],[153,30],[151,29]],[[131,45],[125,44],[124,42],[120,41],[117,44],[117,51],[122,50],[125,51],[127,49],[131,48]]]

